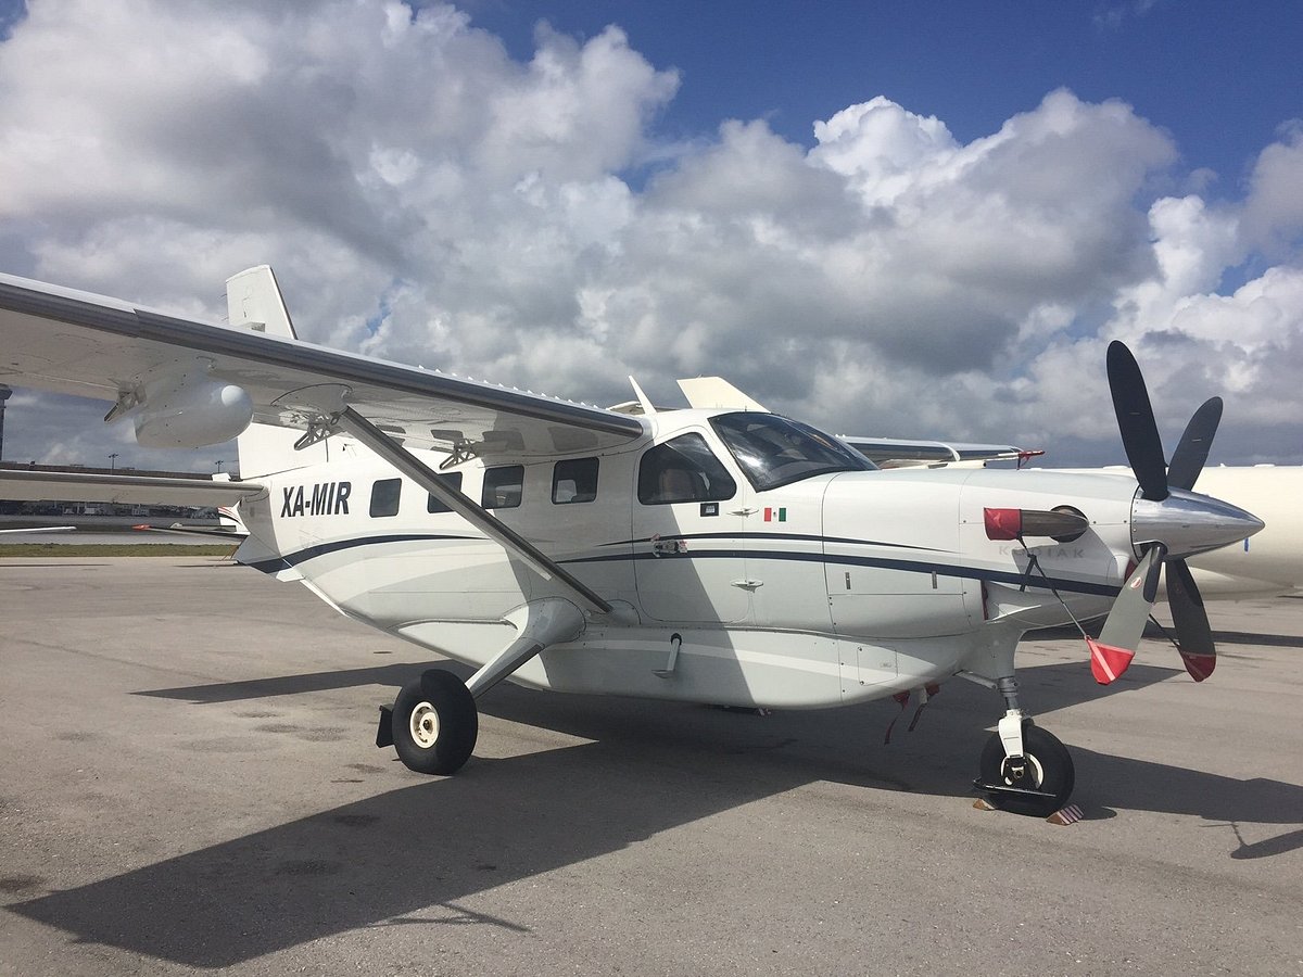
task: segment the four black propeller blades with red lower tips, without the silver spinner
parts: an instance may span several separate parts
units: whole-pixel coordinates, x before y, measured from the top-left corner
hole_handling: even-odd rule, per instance
[[[1169,466],[1158,439],[1158,425],[1153,417],[1144,375],[1131,350],[1113,341],[1108,353],[1109,391],[1122,432],[1122,447],[1127,461],[1140,483],[1140,496],[1162,502],[1171,488],[1190,491],[1208,460],[1217,425],[1221,422],[1221,397],[1212,397],[1190,418]],[[1122,593],[1109,611],[1098,640],[1087,640],[1091,649],[1091,671],[1101,685],[1108,685],[1126,671],[1140,645],[1145,621],[1158,595],[1158,573],[1166,567],[1167,604],[1171,607],[1173,627],[1177,632],[1177,650],[1186,671],[1195,681],[1213,673],[1217,647],[1213,645],[1212,627],[1204,601],[1183,558],[1167,558],[1167,547],[1151,543],[1140,564],[1127,577]]]

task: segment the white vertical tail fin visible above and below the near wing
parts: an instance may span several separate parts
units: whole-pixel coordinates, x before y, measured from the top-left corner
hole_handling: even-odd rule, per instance
[[[227,279],[227,314],[232,326],[266,332],[268,336],[297,339],[285,300],[271,267],[259,264]],[[287,472],[330,459],[326,442],[294,451],[301,431],[261,425],[257,421],[236,439],[240,474],[244,478]]]

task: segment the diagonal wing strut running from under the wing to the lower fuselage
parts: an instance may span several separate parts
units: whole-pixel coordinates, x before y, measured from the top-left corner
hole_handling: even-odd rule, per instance
[[[311,406],[317,410],[323,410],[321,404],[313,404]],[[340,409],[339,403],[336,401],[334,409],[327,410],[327,414],[323,418],[323,425],[327,427],[343,427],[345,431],[362,442],[362,444],[367,448],[394,465],[394,468],[404,475],[439,499],[450,509],[456,512],[472,525],[477,526],[490,539],[495,539],[506,547],[508,552],[519,556],[543,580],[556,580],[563,584],[592,611],[598,614],[611,612],[611,604],[598,597],[592,588],[576,578],[564,567],[560,567],[542,550],[525,539],[525,537],[515,529],[502,522],[496,516],[487,512],[482,507],[476,505],[456,488],[451,488],[439,481],[431,468],[418,461],[412,452],[395,444],[390,435],[373,425],[353,408],[344,404],[343,409]]]

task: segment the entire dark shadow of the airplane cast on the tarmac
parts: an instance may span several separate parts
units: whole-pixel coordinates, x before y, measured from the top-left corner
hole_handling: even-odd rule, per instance
[[[1081,675],[1083,668],[1072,663],[1023,670],[1028,701],[1048,711],[1118,694],[1123,683],[1100,689]],[[388,666],[142,694],[205,707],[323,688],[394,685],[418,670]],[[1171,675],[1134,666],[1126,679],[1136,688]],[[421,779],[7,908],[82,941],[202,968],[367,926],[528,930],[457,901],[814,780],[865,788],[866,810],[878,802],[877,791],[959,799],[985,740],[980,729],[992,723],[997,705],[989,692],[950,683],[929,706],[919,732],[906,736],[898,729],[885,748],[882,732],[899,711],[890,701],[757,716],[504,684],[481,700],[486,716],[593,741],[506,759],[473,758],[452,778]],[[907,724],[908,711],[906,716],[898,727]],[[1194,814],[1231,822],[1237,832],[1238,822],[1298,825],[1303,812],[1303,788],[1294,784],[1239,780],[1080,748],[1074,757],[1076,800],[1085,808]],[[392,767],[410,782],[412,775]],[[967,801],[959,802],[967,809]],[[1252,845],[1242,842],[1229,857],[1269,857],[1298,847],[1303,830]]]

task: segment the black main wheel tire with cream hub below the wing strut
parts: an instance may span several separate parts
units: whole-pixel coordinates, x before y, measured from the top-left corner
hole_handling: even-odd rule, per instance
[[[430,668],[394,700],[394,749],[418,774],[455,774],[470,758],[480,714],[466,684],[452,672]]]

